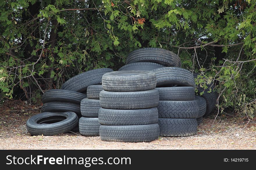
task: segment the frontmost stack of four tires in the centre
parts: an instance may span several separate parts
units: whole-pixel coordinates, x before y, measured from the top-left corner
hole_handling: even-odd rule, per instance
[[[147,142],[159,137],[156,83],[151,71],[115,71],[102,76],[101,140]]]

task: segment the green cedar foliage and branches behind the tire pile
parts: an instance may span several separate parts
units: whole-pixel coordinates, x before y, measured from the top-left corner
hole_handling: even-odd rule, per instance
[[[117,70],[132,50],[159,47],[201,86],[216,84],[220,113],[255,117],[255,0],[6,0],[0,25],[1,102],[36,102],[78,73]]]

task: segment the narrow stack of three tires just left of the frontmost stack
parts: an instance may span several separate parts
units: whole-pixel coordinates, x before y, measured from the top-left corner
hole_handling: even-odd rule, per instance
[[[79,132],[83,136],[99,136],[99,92],[102,90],[102,85],[88,86],[87,98],[81,101],[83,117],[79,119]]]

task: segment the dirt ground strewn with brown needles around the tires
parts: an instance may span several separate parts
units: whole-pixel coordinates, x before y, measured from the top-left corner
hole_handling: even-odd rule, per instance
[[[21,101],[0,106],[0,149],[256,149],[256,124],[238,117],[220,115],[215,122],[214,116],[203,119],[194,136],[125,143],[105,142],[100,137],[73,132],[31,136],[26,131],[26,120],[39,112],[40,105]]]

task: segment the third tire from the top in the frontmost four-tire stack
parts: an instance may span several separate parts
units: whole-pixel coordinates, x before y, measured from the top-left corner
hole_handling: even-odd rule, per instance
[[[157,108],[115,110],[99,109],[99,123],[102,125],[143,125],[158,122]]]

